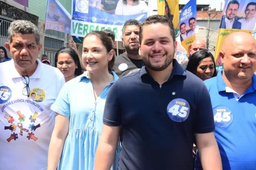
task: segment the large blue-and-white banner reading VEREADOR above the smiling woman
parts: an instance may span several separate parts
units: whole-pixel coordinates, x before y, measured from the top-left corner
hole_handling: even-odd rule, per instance
[[[139,22],[147,18],[149,1],[72,0],[71,35],[84,37],[92,31],[111,29],[117,41],[122,40],[126,20]],[[129,2],[130,3],[130,2]]]

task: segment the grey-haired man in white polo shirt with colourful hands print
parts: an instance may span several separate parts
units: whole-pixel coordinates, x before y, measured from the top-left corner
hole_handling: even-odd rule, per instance
[[[37,59],[42,44],[36,25],[16,20],[8,40],[13,59],[0,64],[0,169],[47,169],[55,124],[50,107],[65,79]]]

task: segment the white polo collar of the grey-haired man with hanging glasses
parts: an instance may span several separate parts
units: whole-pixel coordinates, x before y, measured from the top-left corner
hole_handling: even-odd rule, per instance
[[[30,76],[30,78],[40,78],[41,74],[43,72],[42,67],[43,67],[44,63],[42,63],[39,59],[36,59],[36,62],[38,62],[38,66],[36,67],[35,72]],[[20,75],[18,73],[18,71],[16,70],[14,65],[15,65],[14,60],[11,59],[11,61],[10,61],[10,67],[11,67],[10,77],[11,78],[20,78],[22,75]]]

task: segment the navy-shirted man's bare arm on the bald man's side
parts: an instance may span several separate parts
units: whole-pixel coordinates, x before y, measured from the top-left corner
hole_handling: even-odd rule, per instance
[[[221,170],[221,157],[214,133],[196,134],[199,157],[203,169]]]

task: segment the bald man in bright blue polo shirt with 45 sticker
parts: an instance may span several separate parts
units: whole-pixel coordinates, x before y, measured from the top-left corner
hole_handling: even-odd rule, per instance
[[[205,81],[212,99],[222,168],[256,169],[256,42],[246,32],[228,35],[220,52],[224,70]],[[196,160],[196,169],[201,169]]]

